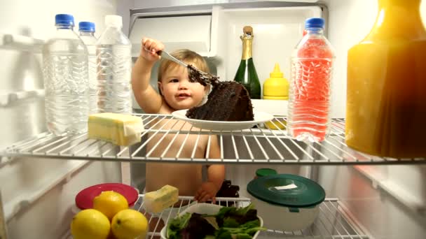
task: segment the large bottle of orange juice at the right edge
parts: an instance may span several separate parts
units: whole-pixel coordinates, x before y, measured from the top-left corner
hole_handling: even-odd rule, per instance
[[[381,157],[426,157],[426,31],[421,0],[378,0],[370,33],[348,51],[345,140]]]

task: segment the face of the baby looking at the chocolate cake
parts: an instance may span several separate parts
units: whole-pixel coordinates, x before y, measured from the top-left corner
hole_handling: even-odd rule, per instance
[[[186,62],[187,64],[195,64]],[[158,87],[161,89],[165,101],[174,110],[184,110],[198,106],[202,97],[207,94],[207,87],[188,78],[188,69],[177,64],[171,65],[165,73]]]

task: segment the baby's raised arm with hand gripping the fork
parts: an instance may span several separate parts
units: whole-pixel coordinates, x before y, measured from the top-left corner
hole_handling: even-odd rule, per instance
[[[142,39],[141,53],[132,69],[133,94],[145,113],[158,113],[163,102],[160,94],[149,85],[152,67],[160,59],[156,52],[163,49],[164,45],[158,41]]]

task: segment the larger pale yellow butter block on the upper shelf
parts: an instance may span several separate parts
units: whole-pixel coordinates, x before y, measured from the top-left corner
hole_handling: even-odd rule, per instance
[[[141,117],[116,113],[89,115],[88,137],[114,145],[133,145],[141,141],[144,123]]]

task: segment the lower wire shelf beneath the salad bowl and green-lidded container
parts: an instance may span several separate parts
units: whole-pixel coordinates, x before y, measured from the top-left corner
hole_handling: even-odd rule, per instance
[[[140,212],[144,212],[144,203],[142,198],[143,194],[140,195],[137,203],[135,204],[135,209]],[[165,210],[155,216],[165,219],[166,222],[164,225],[167,225],[167,222],[174,217],[174,213],[182,212],[185,208],[187,208],[193,199],[189,196],[179,196],[179,198],[181,199],[179,208],[174,208],[174,212],[172,212],[172,210]],[[249,205],[250,199],[217,198],[217,202],[223,206],[245,207]],[[159,220],[153,219],[154,217],[151,217],[151,215],[147,212],[144,212],[144,215],[147,219],[149,219],[149,224],[151,225],[151,231],[148,233],[146,238],[160,236],[163,224],[160,224]],[[308,228],[301,231],[262,231],[258,238],[368,239],[369,236],[366,236],[362,229],[360,229],[359,226],[357,226],[357,223],[351,218],[352,215],[348,213],[338,199],[326,198],[326,200],[320,204],[320,215],[312,225],[308,226]],[[263,221],[268,219],[273,219],[273,215],[271,215],[271,218],[263,218]]]

